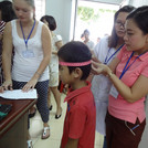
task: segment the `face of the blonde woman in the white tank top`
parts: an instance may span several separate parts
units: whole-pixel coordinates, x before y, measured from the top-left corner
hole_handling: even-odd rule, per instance
[[[33,19],[35,9],[24,0],[13,0],[13,7],[18,19],[28,22]]]

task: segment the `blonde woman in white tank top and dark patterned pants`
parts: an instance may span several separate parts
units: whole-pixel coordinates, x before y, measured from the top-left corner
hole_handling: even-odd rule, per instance
[[[13,8],[18,19],[8,22],[3,33],[2,65],[6,81],[2,89],[28,92],[36,88],[36,107],[43,121],[41,138],[46,139],[50,137],[47,65],[51,60],[51,33],[45,24],[35,20],[34,0],[13,0]],[[32,147],[31,140],[28,141],[28,147]]]

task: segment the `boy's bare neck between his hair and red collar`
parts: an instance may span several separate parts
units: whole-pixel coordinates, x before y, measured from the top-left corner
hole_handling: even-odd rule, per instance
[[[73,84],[71,84],[72,89],[78,89],[78,88],[82,88],[85,86],[87,86],[86,81],[80,81],[80,80],[75,81]]]

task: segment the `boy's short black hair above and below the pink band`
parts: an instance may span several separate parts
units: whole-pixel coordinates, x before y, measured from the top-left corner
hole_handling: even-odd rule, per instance
[[[92,59],[92,54],[89,49],[80,41],[72,41],[63,45],[59,52],[59,57],[61,57],[64,62],[71,63],[80,63],[86,62]],[[70,74],[76,68],[80,67],[83,72],[81,80],[86,80],[91,72],[91,64],[85,66],[67,66]]]

